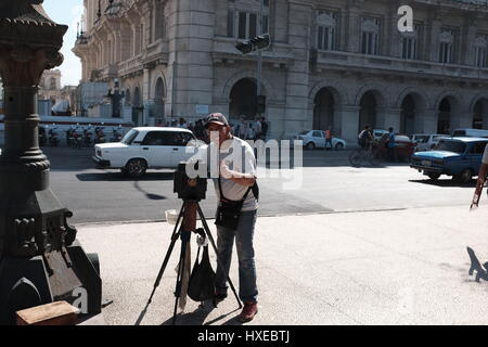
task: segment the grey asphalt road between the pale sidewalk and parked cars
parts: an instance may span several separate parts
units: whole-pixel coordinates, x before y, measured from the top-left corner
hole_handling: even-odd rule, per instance
[[[75,216],[72,222],[90,223],[165,219],[165,210],[178,209],[171,171],[150,171],[140,181],[117,170],[97,170],[91,150],[43,149],[52,162],[51,188]],[[438,183],[408,164],[378,168],[352,168],[348,152],[304,152],[303,187],[283,190],[285,178],[259,180],[261,216],[362,211],[470,205],[474,182],[460,185],[444,178]],[[215,213],[215,193],[209,184],[202,207]]]

